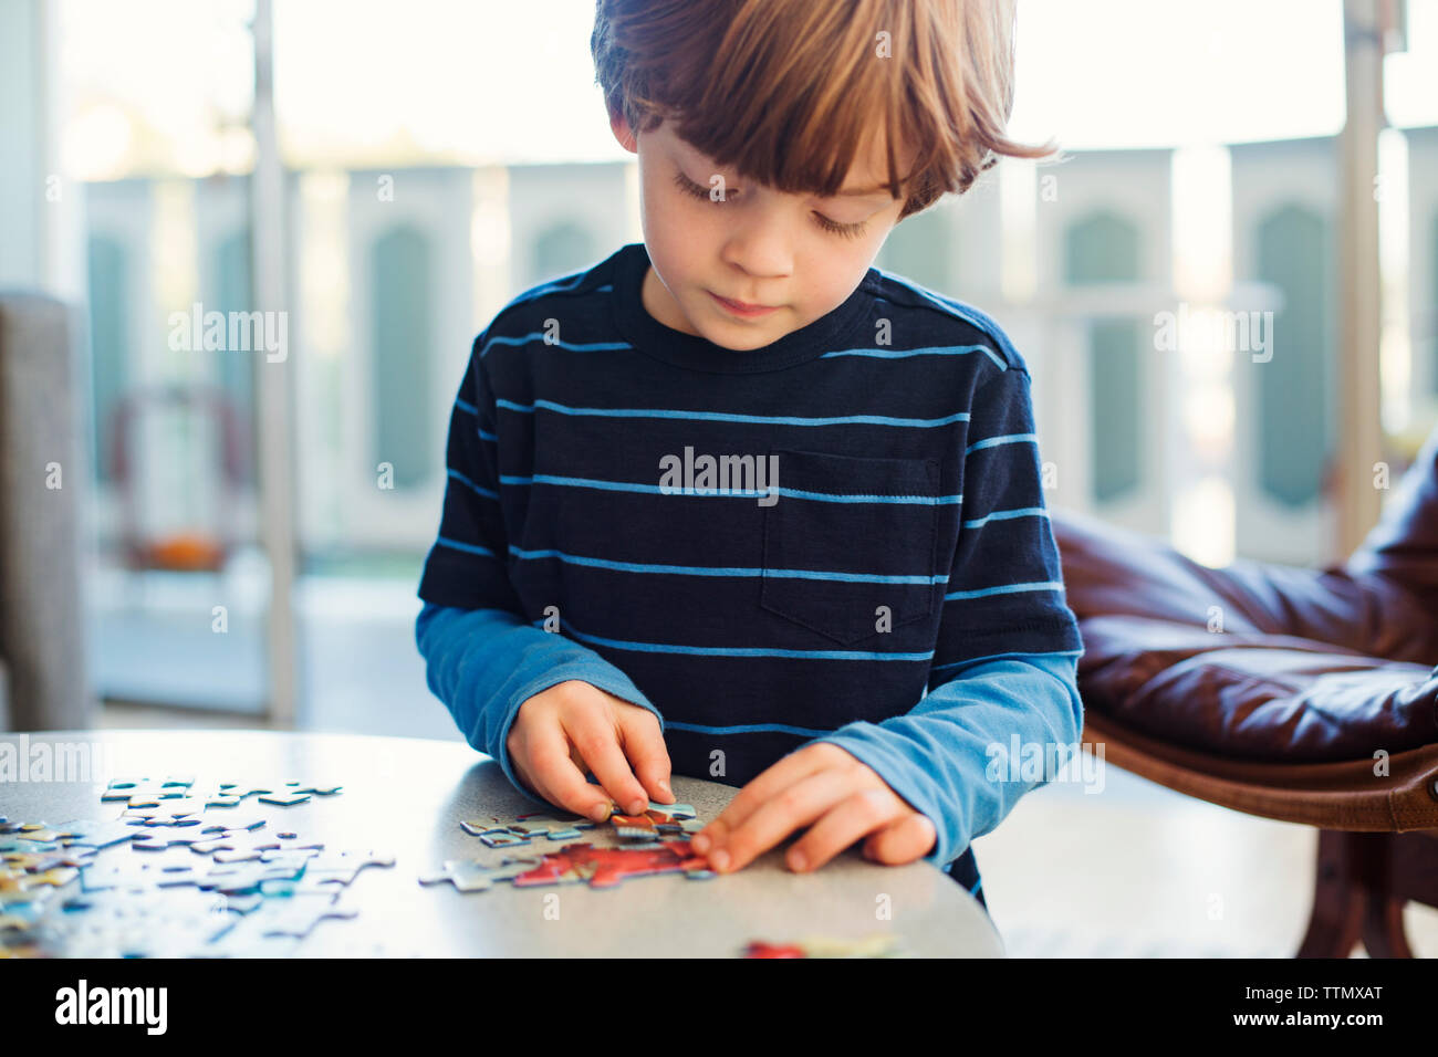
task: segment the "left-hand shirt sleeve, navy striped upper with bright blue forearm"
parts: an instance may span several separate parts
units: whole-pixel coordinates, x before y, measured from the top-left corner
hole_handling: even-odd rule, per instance
[[[618,667],[558,631],[531,624],[509,582],[499,475],[499,430],[483,352],[475,341],[450,414],[449,480],[439,538],[424,564],[414,626],[430,690],[472,746],[516,779],[505,741],[519,706],[578,679],[663,716]]]

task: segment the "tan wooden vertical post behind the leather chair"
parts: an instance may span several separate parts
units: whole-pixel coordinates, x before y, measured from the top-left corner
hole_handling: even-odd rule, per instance
[[[1383,119],[1383,37],[1379,0],[1343,0],[1347,121],[1339,137],[1339,434],[1334,444],[1334,558],[1352,554],[1378,522],[1382,498],[1373,465],[1383,453],[1378,257],[1378,134]]]

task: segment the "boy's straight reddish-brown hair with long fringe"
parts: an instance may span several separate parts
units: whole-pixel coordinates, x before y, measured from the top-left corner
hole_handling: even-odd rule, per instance
[[[899,174],[886,144],[900,220],[1001,154],[1054,152],[1005,132],[1014,0],[595,0],[590,50],[611,116],[636,134],[673,119],[779,191],[837,193],[866,137],[897,131],[916,151]]]

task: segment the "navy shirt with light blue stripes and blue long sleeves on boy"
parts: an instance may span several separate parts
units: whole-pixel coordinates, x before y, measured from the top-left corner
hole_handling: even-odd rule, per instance
[[[510,781],[515,713],[568,679],[651,709],[676,774],[833,742],[979,894],[969,841],[1041,784],[995,759],[1081,726],[1022,358],[877,267],[733,351],[656,321],[647,267],[624,246],[476,338],[418,590],[431,690]]]

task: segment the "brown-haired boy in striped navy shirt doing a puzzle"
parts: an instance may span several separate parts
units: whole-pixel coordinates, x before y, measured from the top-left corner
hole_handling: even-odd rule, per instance
[[[429,685],[521,790],[603,820],[715,778],[720,873],[802,831],[789,869],[861,841],[984,902],[969,840],[1038,784],[986,771],[1077,741],[1081,644],[1022,358],[870,263],[1048,152],[1004,135],[1011,33],[1001,0],[598,0],[644,242],[475,341],[420,584]]]

